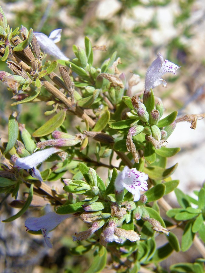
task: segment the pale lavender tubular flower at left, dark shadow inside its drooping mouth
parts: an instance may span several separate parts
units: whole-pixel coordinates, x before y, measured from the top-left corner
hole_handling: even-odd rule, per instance
[[[19,169],[31,170],[30,173],[33,177],[38,178],[40,181],[43,181],[41,174],[36,167],[45,161],[48,157],[50,157],[53,153],[60,152],[60,149],[55,147],[51,147],[42,151],[38,151],[33,153],[28,157],[18,158],[15,162],[14,167],[18,167]]]

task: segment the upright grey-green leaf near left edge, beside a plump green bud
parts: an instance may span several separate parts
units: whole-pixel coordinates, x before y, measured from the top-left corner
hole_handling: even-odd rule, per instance
[[[19,125],[14,116],[9,117],[9,136],[4,154],[8,153],[15,145],[19,135]]]

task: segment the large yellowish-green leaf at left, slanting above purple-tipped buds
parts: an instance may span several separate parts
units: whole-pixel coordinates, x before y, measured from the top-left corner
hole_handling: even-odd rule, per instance
[[[66,111],[60,110],[55,116],[50,120],[46,121],[39,129],[37,129],[32,136],[46,136],[52,133],[56,128],[60,127],[63,124],[63,121],[66,117]]]

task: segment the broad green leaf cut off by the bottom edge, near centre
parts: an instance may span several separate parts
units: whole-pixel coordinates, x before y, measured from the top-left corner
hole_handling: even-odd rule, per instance
[[[88,268],[85,273],[97,273],[101,272],[106,265],[107,262],[107,250],[106,248],[102,247],[103,253],[94,252],[94,260],[92,261],[91,266]]]

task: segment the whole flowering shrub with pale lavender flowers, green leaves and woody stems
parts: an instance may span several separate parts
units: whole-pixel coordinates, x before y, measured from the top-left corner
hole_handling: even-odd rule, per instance
[[[179,121],[189,121],[195,129],[196,118],[204,115],[177,118],[174,111],[162,118],[162,101],[155,103],[153,93],[159,84],[166,86],[161,76],[175,74],[179,66],[158,53],[147,70],[143,95],[130,97],[126,95],[125,74],[117,69],[116,52],[96,68],[91,42],[85,37],[85,49],[74,45],[76,58],[70,60],[55,45],[60,32],[47,37],[25,27],[12,30],[0,8],[0,55],[12,71],[0,71],[0,79],[14,95],[12,106],[46,102],[53,107],[45,112],[53,116],[32,136],[27,125],[18,122],[16,112],[9,118],[8,142],[1,147],[0,187],[1,193],[12,195],[16,207],[23,205],[3,222],[6,225],[26,211],[30,213],[34,194],[46,198],[52,212],[29,217],[25,226],[31,233],[42,232],[46,245],[52,248],[48,233],[67,218],[80,218],[88,227],[84,231],[76,227],[72,250],[82,254],[80,245],[84,246],[83,254],[93,251],[87,272],[108,267],[108,253],[118,272],[145,272],[148,268],[156,272],[173,251],[187,251],[192,244],[204,255],[200,240],[204,240],[205,189],[200,189],[197,200],[177,189],[179,180],[171,179],[177,164],[167,168],[166,158],[180,149],[165,147]],[[49,55],[56,60],[47,60]],[[60,75],[56,74],[58,64]],[[128,89],[130,86],[131,81]],[[74,121],[77,126],[70,128],[71,135],[66,118],[72,120],[73,116],[78,119]],[[102,158],[107,158],[106,163]],[[115,158],[120,159],[118,165]],[[42,163],[48,159],[52,167],[46,168]],[[108,172],[104,181],[97,174],[98,167]],[[63,194],[47,184],[59,180]],[[22,185],[29,188],[25,202],[17,200]],[[164,199],[173,190],[180,205],[174,209]],[[181,246],[174,227],[183,229]],[[166,241],[163,246],[157,245],[158,235]],[[203,271],[200,259],[189,266]],[[173,265],[172,270],[177,268]]]

